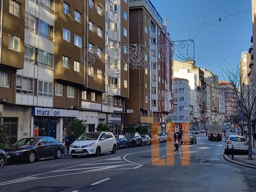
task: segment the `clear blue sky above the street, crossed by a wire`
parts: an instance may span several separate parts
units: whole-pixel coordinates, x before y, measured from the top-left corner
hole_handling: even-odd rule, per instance
[[[252,0],[150,1],[163,24],[164,18],[168,19],[172,40],[195,39],[196,65],[219,76],[220,67],[226,68],[227,62],[237,66],[241,52],[248,51],[252,44]]]

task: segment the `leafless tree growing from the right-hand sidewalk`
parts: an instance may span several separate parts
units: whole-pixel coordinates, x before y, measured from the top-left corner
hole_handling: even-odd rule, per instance
[[[252,159],[251,123],[253,122],[253,109],[255,109],[256,106],[255,88],[253,87],[256,86],[256,81],[255,78],[250,79],[248,76],[244,76],[242,70],[246,70],[246,74],[253,74],[255,76],[253,68],[252,70],[249,70],[248,68],[240,68],[239,64],[237,66],[231,66],[228,62],[226,68],[221,68],[221,76],[224,81],[230,83],[228,87],[223,87],[223,92],[225,93],[225,102],[228,102],[228,104],[237,111],[232,115],[237,115],[237,113],[239,113],[247,120],[249,138],[248,159]]]

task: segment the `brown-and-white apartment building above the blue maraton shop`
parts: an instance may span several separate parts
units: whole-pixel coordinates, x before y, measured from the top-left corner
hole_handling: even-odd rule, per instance
[[[129,68],[124,49],[106,47],[128,44],[128,13],[125,0],[1,1],[0,111],[9,144],[35,129],[62,140],[73,118],[86,132],[99,123],[122,131]]]

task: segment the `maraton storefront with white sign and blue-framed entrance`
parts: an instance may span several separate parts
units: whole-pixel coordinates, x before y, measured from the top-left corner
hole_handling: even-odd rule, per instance
[[[63,141],[72,118],[77,118],[79,111],[54,108],[33,108],[34,136],[52,136]]]

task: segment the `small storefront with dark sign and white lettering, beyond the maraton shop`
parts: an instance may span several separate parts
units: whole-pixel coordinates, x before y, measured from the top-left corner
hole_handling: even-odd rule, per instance
[[[107,124],[113,134],[122,134],[122,114],[109,113],[107,115]]]

